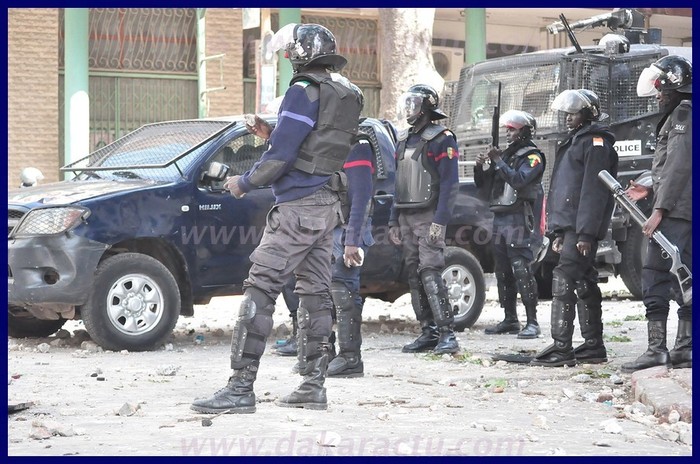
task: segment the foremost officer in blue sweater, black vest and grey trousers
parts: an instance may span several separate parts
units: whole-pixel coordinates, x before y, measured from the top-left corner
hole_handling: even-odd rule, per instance
[[[270,147],[250,171],[229,178],[236,198],[271,185],[275,204],[252,266],[231,341],[233,375],[212,397],[196,400],[204,413],[253,413],[260,358],[272,331],[275,301],[292,273],[299,294],[299,373],[303,381],[277,400],[283,407],[326,409],[333,229],[341,221],[338,172],[357,133],[361,101],[350,82],[334,72],[347,60],[333,34],[318,24],[288,24],[270,40],[284,49],[294,70],[270,133]],[[268,130],[256,118],[252,133]]]

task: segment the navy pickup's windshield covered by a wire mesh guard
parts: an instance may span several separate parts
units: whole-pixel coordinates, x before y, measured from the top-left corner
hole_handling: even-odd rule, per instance
[[[232,124],[210,120],[147,124],[61,170],[79,172],[84,179],[170,182]]]

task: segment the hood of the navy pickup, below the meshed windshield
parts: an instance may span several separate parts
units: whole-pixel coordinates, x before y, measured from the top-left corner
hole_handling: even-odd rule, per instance
[[[156,185],[156,183],[152,180],[65,180],[36,187],[10,190],[7,194],[7,201],[14,204],[42,203],[46,205],[64,205],[101,195],[141,189],[153,185]]]

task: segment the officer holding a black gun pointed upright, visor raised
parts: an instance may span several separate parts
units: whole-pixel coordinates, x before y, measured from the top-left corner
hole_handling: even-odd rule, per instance
[[[494,213],[491,246],[498,286],[498,299],[505,319],[486,327],[487,334],[518,334],[518,338],[540,335],[537,323],[537,282],[532,272],[542,244],[540,213],[544,190],[545,156],[532,142],[537,123],[525,111],[510,110],[500,118],[506,128],[508,147],[492,147],[480,154],[474,168],[476,186],[487,192]],[[486,164],[486,162],[490,163]],[[516,312],[517,294],[525,306],[527,323],[520,330]]]

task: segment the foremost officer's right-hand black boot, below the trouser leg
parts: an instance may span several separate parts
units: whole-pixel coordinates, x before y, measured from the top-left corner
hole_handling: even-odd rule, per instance
[[[315,410],[328,408],[326,388],[323,386],[328,369],[328,353],[325,351],[324,349],[320,357],[306,362],[304,367],[301,367],[300,361],[299,373],[304,376],[304,380],[292,393],[278,399],[275,402],[277,406]]]

